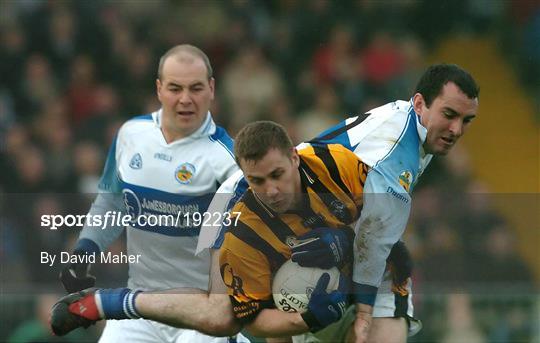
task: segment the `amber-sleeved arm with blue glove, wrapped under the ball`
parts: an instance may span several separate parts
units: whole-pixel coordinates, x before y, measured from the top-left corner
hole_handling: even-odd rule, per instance
[[[318,281],[305,313],[275,308],[268,257],[232,233],[225,238],[220,256],[221,276],[227,286],[235,317],[256,337],[287,337],[318,331],[339,320],[347,297],[343,289],[326,292],[330,277]],[[345,287],[345,282],[340,283]]]

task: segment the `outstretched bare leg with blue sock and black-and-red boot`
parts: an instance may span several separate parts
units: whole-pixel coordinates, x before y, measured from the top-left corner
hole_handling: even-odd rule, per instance
[[[221,281],[218,252],[212,254],[212,289],[181,288],[139,292],[128,288],[87,289],[58,301],[52,309],[51,328],[65,335],[102,319],[145,318],[211,336],[231,336],[240,331],[229,296]]]

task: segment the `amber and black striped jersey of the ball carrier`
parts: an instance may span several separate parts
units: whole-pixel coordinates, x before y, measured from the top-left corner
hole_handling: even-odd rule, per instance
[[[237,220],[225,234],[220,270],[241,321],[272,307],[272,275],[290,258],[298,236],[316,227],[348,230],[362,210],[368,168],[340,144],[306,146],[298,151],[303,205],[275,213],[248,189],[232,213]]]

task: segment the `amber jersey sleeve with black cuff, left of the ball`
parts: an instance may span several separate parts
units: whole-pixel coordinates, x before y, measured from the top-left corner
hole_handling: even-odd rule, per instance
[[[228,232],[220,252],[220,271],[235,317],[243,324],[274,307],[272,275],[264,254]]]

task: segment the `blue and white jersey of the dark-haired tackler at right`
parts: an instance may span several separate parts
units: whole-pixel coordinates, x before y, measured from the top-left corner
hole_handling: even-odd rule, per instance
[[[398,100],[348,118],[298,146],[342,144],[370,167],[364,185],[364,207],[355,227],[353,281],[375,291],[382,281],[390,249],[405,230],[411,208],[410,192],[432,158],[422,147],[426,134],[411,103]],[[235,190],[234,186],[245,185],[241,179],[241,173],[233,175],[218,193],[237,198],[243,190]],[[222,195],[220,203],[223,208],[226,201]],[[197,251],[218,248],[222,231],[203,227]]]

